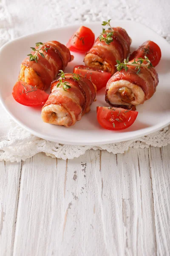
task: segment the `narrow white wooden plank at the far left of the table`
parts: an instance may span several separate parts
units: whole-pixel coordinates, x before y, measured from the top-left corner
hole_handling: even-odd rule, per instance
[[[21,163],[0,162],[0,255],[12,255]]]

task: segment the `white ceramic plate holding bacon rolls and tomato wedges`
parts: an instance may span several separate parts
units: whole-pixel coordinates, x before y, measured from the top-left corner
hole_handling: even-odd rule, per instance
[[[159,85],[153,97],[137,107],[138,117],[134,124],[124,131],[108,131],[99,126],[96,119],[96,106],[107,106],[105,90],[97,93],[97,101],[91,111],[82,117],[74,126],[65,128],[44,123],[41,119],[41,108],[30,108],[17,103],[12,95],[12,88],[17,81],[20,64],[34,47],[36,42],[57,40],[66,44],[79,25],[65,26],[40,32],[9,42],[0,49],[0,100],[3,107],[18,124],[32,134],[62,144],[100,145],[130,140],[150,134],[170,124],[170,45],[151,29],[133,21],[113,21],[112,26],[126,29],[132,38],[131,52],[144,41],[152,40],[159,45],[162,58],[156,70],[159,74]],[[96,37],[102,31],[101,22],[89,23]],[[83,55],[72,53],[74,61],[68,64],[65,72],[73,72],[73,67],[83,64]]]

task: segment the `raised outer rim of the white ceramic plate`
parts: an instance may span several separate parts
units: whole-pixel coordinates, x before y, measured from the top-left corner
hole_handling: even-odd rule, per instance
[[[159,36],[163,41],[165,41],[167,43],[167,45],[170,47],[170,44],[167,42],[167,40],[163,37],[161,37],[161,35],[159,35],[158,33],[156,33],[153,29],[151,29],[149,26],[147,25],[144,25],[142,23],[139,23],[139,22],[136,22],[136,21],[133,21],[133,20],[112,20],[112,23],[113,22],[126,22],[126,23],[136,23],[136,24],[140,24],[141,26],[143,27],[147,27],[147,29],[150,29],[151,31],[153,31],[154,34],[156,34],[157,36]],[[100,24],[101,25],[101,21],[96,21],[96,22],[85,22],[83,23],[83,25],[98,25]],[[20,41],[20,39],[22,38],[29,38],[30,36],[35,36],[35,35],[40,35],[40,34],[43,34],[45,32],[54,32],[56,31],[57,29],[63,29],[63,28],[69,28],[69,27],[73,27],[73,26],[80,26],[81,24],[77,24],[77,23],[74,23],[74,24],[70,24],[70,25],[67,25],[67,26],[57,26],[56,28],[53,28],[53,29],[46,29],[46,30],[42,30],[42,31],[39,31],[39,32],[35,32],[35,33],[31,33],[31,34],[28,34],[28,35],[23,35],[23,36],[20,36],[18,38],[15,38],[11,41],[8,41],[6,44],[3,44],[2,47],[0,47],[0,52],[3,51],[3,49],[8,46],[9,44],[13,43],[14,41]],[[150,128],[149,131],[145,131],[145,129],[149,129],[149,128],[143,128],[142,129],[142,133],[139,135],[139,134],[136,134],[136,135],[133,135],[133,132],[134,131],[130,131],[129,133],[132,133],[132,135],[128,134],[128,137],[127,138],[122,138],[121,139],[121,136],[118,136],[117,139],[113,139],[113,140],[107,140],[107,141],[100,141],[100,143],[91,143],[91,142],[86,142],[86,143],[82,143],[82,142],[69,142],[68,140],[55,140],[53,139],[53,137],[51,138],[50,135],[45,135],[45,134],[40,134],[39,132],[37,131],[34,131],[33,129],[29,128],[27,125],[23,124],[22,122],[20,122],[20,120],[18,120],[9,110],[8,108],[6,107],[6,104],[4,102],[4,99],[2,98],[1,96],[1,91],[0,91],[0,103],[1,105],[3,106],[3,108],[5,109],[5,111],[9,114],[9,116],[11,117],[11,119],[14,120],[14,122],[16,122],[18,125],[20,125],[21,127],[23,127],[24,129],[26,129],[27,131],[29,131],[31,134],[39,137],[39,138],[42,138],[44,140],[48,140],[48,141],[51,141],[51,142],[56,142],[56,143],[59,143],[59,144],[64,144],[64,145],[94,145],[94,146],[97,146],[97,145],[105,145],[105,144],[111,144],[111,143],[119,143],[119,142],[124,142],[124,141],[128,141],[128,140],[136,140],[136,138],[141,138],[143,136],[146,136],[148,134],[152,134],[156,131],[159,131],[161,130],[162,128],[166,127],[167,125],[170,125],[170,120],[169,122],[164,122],[161,126],[159,124],[156,124],[154,126],[152,126]],[[159,126],[159,127],[158,127]],[[121,134],[121,133],[120,133]]]

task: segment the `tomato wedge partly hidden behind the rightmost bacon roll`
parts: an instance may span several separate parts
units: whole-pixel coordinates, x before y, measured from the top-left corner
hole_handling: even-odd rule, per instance
[[[156,67],[161,59],[161,49],[153,41],[146,41],[130,55],[129,60],[144,58],[145,55],[151,61],[153,67]]]

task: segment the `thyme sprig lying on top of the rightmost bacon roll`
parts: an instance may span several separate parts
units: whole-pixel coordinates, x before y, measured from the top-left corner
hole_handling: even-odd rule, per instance
[[[143,62],[146,61],[147,63],[144,64]],[[134,66],[136,67],[135,69],[137,70],[136,74],[139,74],[139,72],[141,71],[141,67],[147,67],[147,68],[151,68],[153,67],[152,63],[150,62],[150,60],[147,58],[147,56],[144,56],[143,58],[138,58],[137,61],[134,58],[133,62],[129,62],[129,57],[127,57],[127,59],[124,59],[124,62],[120,62],[119,60],[116,60],[117,64],[115,65],[115,67],[117,68],[118,71],[122,70],[123,68],[125,69],[125,71],[128,70],[128,66]]]

